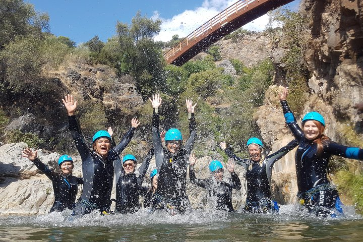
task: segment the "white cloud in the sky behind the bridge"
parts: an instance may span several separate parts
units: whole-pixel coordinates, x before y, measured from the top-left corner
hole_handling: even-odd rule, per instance
[[[186,37],[195,29],[206,23],[208,20],[219,14],[235,3],[235,0],[205,0],[201,7],[194,10],[186,10],[171,19],[163,19],[159,17],[158,12],[154,12],[152,19],[161,19],[160,33],[154,38],[156,41],[169,41],[175,34],[179,38]],[[248,23],[244,28],[254,31],[262,31],[268,23],[268,16],[264,15],[260,18]]]

